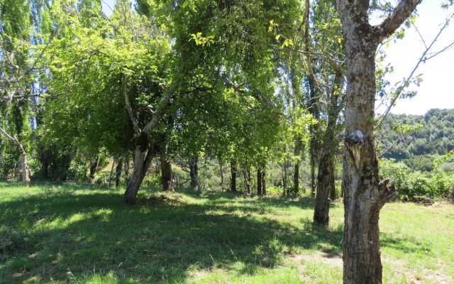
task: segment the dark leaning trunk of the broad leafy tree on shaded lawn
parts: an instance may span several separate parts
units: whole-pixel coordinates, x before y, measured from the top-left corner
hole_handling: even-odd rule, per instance
[[[156,147],[148,146],[148,134],[141,134],[135,146],[133,176],[129,180],[126,192],[123,195],[123,201],[126,204],[135,204],[137,192],[156,153]]]

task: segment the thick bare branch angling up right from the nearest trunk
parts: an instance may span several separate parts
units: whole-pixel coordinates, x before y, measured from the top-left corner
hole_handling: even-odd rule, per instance
[[[422,0],[401,0],[397,4],[396,8],[390,13],[387,18],[378,26],[373,26],[377,42],[381,43],[384,38],[392,35],[394,31],[399,28],[402,23],[413,13],[416,6],[421,3]]]

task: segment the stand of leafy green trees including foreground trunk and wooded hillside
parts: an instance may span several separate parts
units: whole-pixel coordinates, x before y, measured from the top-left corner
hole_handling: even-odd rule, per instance
[[[454,150],[452,110],[375,114],[420,2],[0,0],[0,178],[309,195],[322,226],[342,195],[343,282],[381,283],[378,158]]]

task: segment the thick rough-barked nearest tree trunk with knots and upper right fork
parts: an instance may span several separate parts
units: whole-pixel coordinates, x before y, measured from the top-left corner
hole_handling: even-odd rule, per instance
[[[421,0],[401,0],[379,26],[370,26],[369,1],[337,0],[347,72],[343,160],[343,283],[382,283],[380,209],[397,197],[380,182],[375,155],[375,52]]]

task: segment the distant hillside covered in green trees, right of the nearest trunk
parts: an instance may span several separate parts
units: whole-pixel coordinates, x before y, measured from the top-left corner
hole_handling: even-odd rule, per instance
[[[454,150],[454,109],[431,109],[425,115],[389,114],[377,131],[382,151],[399,137],[393,126],[421,124],[423,128],[411,133],[384,154],[385,158],[403,160],[415,170],[431,170],[433,158]]]

